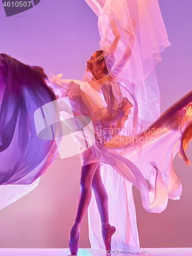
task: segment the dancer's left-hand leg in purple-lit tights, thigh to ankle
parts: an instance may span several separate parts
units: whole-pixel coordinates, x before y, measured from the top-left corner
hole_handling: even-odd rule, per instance
[[[78,230],[86,214],[91,201],[91,185],[98,163],[91,163],[81,167],[80,193],[77,201],[75,222],[70,232],[70,244],[74,244],[78,239]]]

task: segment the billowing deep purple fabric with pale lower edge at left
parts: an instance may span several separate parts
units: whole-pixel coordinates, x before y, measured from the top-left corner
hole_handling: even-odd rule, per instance
[[[34,123],[36,109],[56,97],[45,82],[42,68],[27,66],[6,54],[0,54],[0,84],[3,208],[31,191],[56,156],[55,141],[39,139]]]

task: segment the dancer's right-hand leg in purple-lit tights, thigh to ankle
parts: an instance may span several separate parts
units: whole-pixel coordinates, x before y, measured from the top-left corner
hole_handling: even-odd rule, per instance
[[[101,179],[100,164],[97,166],[93,176],[92,188],[100,214],[102,238],[105,240],[106,233],[111,225],[109,224],[108,194]]]

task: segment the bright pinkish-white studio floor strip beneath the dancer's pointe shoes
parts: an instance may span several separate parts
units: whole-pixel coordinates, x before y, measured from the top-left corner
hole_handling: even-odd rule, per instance
[[[186,254],[192,255],[192,248],[142,248],[143,254],[147,255],[174,255],[174,254]],[[111,255],[126,255],[126,254],[136,254],[134,251],[112,251]],[[140,254],[140,253],[139,253]],[[140,254],[140,255],[143,255]],[[25,249],[25,248],[0,248],[1,256],[68,256],[71,255],[69,249]],[[106,254],[104,250],[90,249],[90,248],[80,248],[78,251],[78,256],[83,255],[110,255]],[[137,254],[138,255],[138,254]]]

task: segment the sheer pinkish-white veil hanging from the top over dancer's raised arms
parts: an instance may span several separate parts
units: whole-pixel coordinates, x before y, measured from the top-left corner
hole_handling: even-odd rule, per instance
[[[160,52],[170,45],[158,1],[86,0],[86,2],[98,16],[100,48],[107,55],[105,61],[112,77],[119,72],[115,67],[122,58],[126,46],[130,44],[132,56],[125,66],[120,68],[116,81],[128,90],[133,98],[135,122],[132,125],[137,132],[142,127],[146,129],[160,115],[159,89],[154,66],[161,60]],[[126,29],[127,24],[133,27],[132,18],[136,22],[134,43],[121,29]],[[115,59],[111,58],[109,53],[109,47],[114,40],[110,19],[114,19],[120,32],[120,40],[114,53]],[[126,96],[124,92],[122,93]],[[128,98],[132,102],[131,98]],[[135,130],[132,132],[137,133]]]

